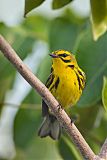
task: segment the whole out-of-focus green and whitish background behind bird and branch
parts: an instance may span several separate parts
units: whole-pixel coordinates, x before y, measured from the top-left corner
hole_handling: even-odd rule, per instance
[[[46,0],[26,18],[24,6],[24,0],[0,0],[0,34],[43,83],[50,52],[66,49],[76,55],[87,82],[69,115],[97,154],[107,136],[107,33],[93,40],[89,0],[57,10]],[[0,53],[0,159],[82,160],[65,132],[57,142],[39,138],[41,122],[40,96]]]

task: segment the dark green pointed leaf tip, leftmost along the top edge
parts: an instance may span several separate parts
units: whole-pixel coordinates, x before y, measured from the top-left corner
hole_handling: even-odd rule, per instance
[[[24,15],[29,13],[32,9],[38,7],[45,0],[25,0],[25,12]]]

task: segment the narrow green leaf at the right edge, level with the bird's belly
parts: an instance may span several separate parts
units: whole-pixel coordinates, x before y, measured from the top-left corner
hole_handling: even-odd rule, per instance
[[[107,77],[103,78],[102,102],[105,110],[107,111]]]

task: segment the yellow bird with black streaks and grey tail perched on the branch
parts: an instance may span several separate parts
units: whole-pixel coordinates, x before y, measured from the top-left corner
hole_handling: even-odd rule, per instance
[[[53,63],[46,87],[59,104],[66,109],[79,100],[85,86],[85,73],[78,66],[75,56],[68,51],[58,50],[50,56]],[[42,115],[44,121],[38,135],[40,137],[50,136],[52,139],[57,140],[60,137],[61,126],[43,100]]]

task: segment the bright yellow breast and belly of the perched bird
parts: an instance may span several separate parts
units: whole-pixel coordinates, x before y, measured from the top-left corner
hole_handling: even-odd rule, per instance
[[[74,105],[81,96],[76,73],[71,68],[63,68],[54,72],[54,81],[58,81],[57,88],[52,89],[52,94],[63,108]]]

